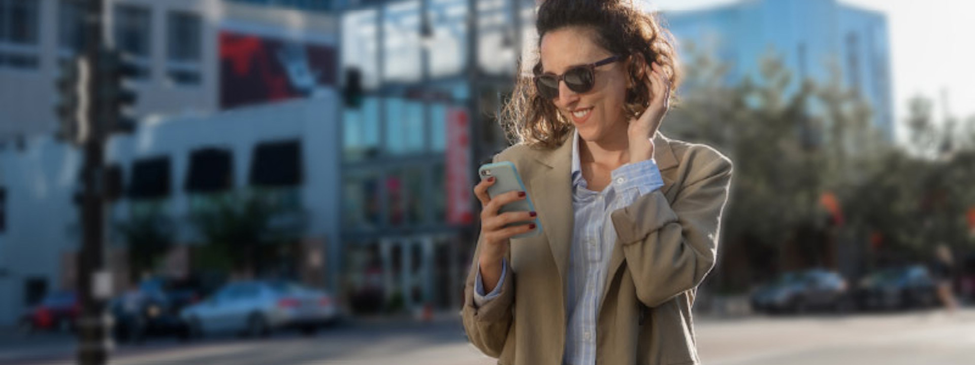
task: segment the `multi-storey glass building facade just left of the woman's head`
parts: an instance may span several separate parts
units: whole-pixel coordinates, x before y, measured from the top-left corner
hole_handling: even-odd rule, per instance
[[[423,0],[426,39],[420,1],[379,2],[342,14],[339,64],[361,73],[366,95],[363,105],[342,113],[341,270],[357,312],[459,306],[451,293],[461,285],[473,234],[470,222],[449,219],[448,190],[469,189],[457,171],[469,169],[473,178],[477,162],[458,161],[467,159],[466,149],[493,146],[485,138],[498,136],[496,126],[485,131],[491,119],[470,111],[471,97],[478,97],[480,110],[495,111],[487,99],[510,89],[515,71],[511,1],[477,2],[476,50],[468,42],[468,0]],[[477,92],[465,72],[472,53],[483,83]],[[459,132],[448,133],[451,125]]]

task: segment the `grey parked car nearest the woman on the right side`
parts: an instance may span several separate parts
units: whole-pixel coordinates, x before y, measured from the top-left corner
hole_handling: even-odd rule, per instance
[[[852,302],[846,280],[835,272],[813,269],[786,273],[761,286],[752,295],[752,309],[759,312],[847,311]]]

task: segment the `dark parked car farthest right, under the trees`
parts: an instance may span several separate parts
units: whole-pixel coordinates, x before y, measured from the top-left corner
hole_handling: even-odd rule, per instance
[[[864,310],[905,310],[937,304],[934,279],[921,265],[868,274],[860,280],[856,298]]]

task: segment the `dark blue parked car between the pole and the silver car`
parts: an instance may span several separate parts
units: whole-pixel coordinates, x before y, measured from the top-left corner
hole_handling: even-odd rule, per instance
[[[119,342],[142,342],[148,337],[189,337],[179,311],[199,301],[192,281],[169,277],[143,280],[137,288],[112,301],[115,339]]]

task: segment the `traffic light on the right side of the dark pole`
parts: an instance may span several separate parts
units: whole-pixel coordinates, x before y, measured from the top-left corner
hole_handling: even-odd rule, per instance
[[[136,129],[131,107],[138,97],[125,81],[138,75],[138,67],[117,50],[102,49],[98,56],[98,120],[105,134],[130,133]]]

